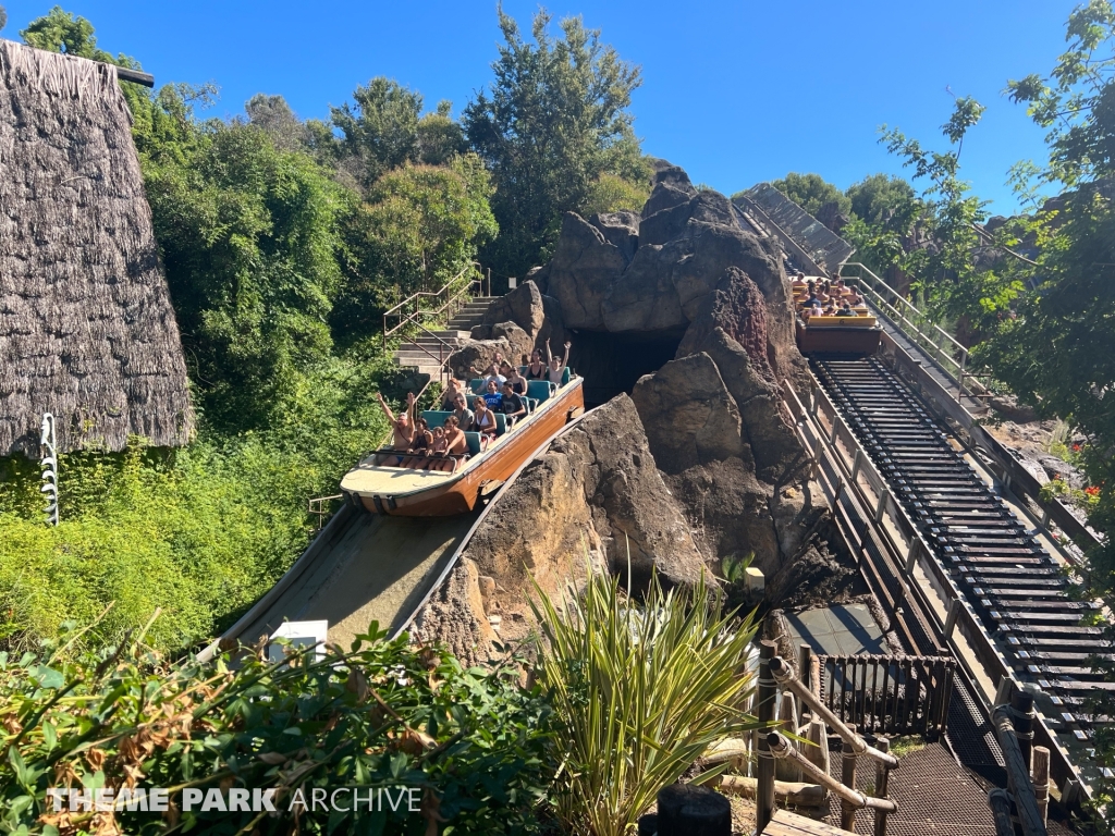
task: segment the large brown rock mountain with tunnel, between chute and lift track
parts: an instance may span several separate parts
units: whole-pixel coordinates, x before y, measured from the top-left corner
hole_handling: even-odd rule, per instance
[[[512,329],[526,336],[523,347],[550,338],[555,350],[569,334],[588,399],[615,400],[572,434],[582,439],[584,451],[573,457],[581,465],[569,464],[563,437],[508,486],[495,509],[506,531],[469,547],[484,554],[474,558],[478,579],[513,599],[522,584],[507,579],[526,565],[543,589],[553,587],[583,563],[579,538],[615,568],[622,548],[614,535],[622,532],[633,565],[657,566],[673,582],[692,576],[696,551],[717,573],[724,561],[754,553],[768,600],[783,605],[849,585],[854,568],[824,546],[828,509],[779,406],[785,381],[798,391],[811,385],[783,256],[740,225],[727,198],[697,191],[685,172],[660,163],[640,214],[586,221],[566,213],[553,259],[493,303],[474,333],[483,342],[460,357],[496,344],[514,357],[518,347],[500,337]],[[624,454],[631,459],[615,465]],[[640,474],[634,483],[632,473]],[[659,482],[661,489],[647,489]],[[576,495],[580,511],[553,513],[558,494]],[[618,522],[656,517],[669,536]],[[549,529],[527,547],[518,526],[532,519]],[[458,574],[464,583],[467,571]],[[427,629],[435,621],[426,620]]]

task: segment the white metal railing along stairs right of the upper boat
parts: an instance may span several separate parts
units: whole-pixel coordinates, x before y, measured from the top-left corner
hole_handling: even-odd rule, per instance
[[[929,314],[918,309],[910,300],[891,288],[861,262],[850,262],[844,268],[855,268],[856,280],[861,282],[864,295],[875,309],[905,337],[920,346],[925,353],[937,360],[941,371],[957,385],[952,397],[959,402],[966,395],[975,399],[986,399],[991,392],[968,371],[968,349],[933,322]],[[844,276],[852,278],[852,276]]]

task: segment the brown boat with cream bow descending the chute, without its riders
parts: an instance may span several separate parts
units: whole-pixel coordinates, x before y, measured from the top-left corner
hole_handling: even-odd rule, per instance
[[[511,476],[523,459],[584,411],[584,379],[568,377],[560,387],[532,380],[526,397],[529,415],[512,429],[504,416],[496,415],[497,434],[486,448],[481,448],[479,434],[465,434],[469,455],[457,461],[453,473],[426,469],[428,461],[421,457],[415,460],[416,467],[399,467],[395,464],[399,453],[381,449],[346,474],[341,490],[376,514],[442,517],[472,511],[485,486]],[[442,426],[449,415],[423,412],[432,428]]]

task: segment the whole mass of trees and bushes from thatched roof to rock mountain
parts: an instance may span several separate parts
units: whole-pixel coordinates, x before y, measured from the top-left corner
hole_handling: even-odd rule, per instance
[[[482,247],[497,273],[521,272],[566,210],[641,206],[638,69],[579,19],[558,39],[549,22],[540,13],[527,43],[500,14],[495,82],[460,123],[449,103],[423,113],[418,91],[385,77],[328,121],[262,94],[243,117],[205,118],[213,86],[122,82],[198,438],[62,457],[57,528],[39,522],[37,468],[0,460],[0,641],[31,647],[112,602],[85,641],[114,641],[156,607],[158,648],[220,630],[304,545],[307,499],[334,493],[382,437],[376,393],[401,395],[378,340],[384,311],[467,282]],[[21,35],[139,66],[58,7]]]

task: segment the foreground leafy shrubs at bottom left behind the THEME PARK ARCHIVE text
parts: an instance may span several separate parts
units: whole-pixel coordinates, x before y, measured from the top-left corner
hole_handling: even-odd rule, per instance
[[[157,622],[156,622],[157,624]],[[550,710],[506,671],[465,671],[437,648],[360,636],[266,663],[167,664],[142,645],[75,661],[48,645],[0,654],[0,828],[7,833],[527,834],[552,777]],[[62,632],[62,639],[70,634]],[[48,787],[172,789],[165,814],[54,811]],[[186,810],[203,793],[278,788],[279,813]],[[308,809],[313,790],[356,813]],[[367,809],[372,788],[413,788]],[[420,799],[420,813],[410,801]],[[301,801],[301,806],[300,806]],[[119,827],[120,829],[115,829]],[[241,829],[243,828],[243,829]]]

